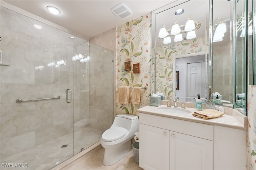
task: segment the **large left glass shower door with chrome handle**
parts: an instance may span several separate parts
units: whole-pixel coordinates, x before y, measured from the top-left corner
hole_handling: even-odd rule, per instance
[[[0,10],[1,169],[17,164],[26,170],[50,169],[73,156],[74,103],[66,97],[71,101],[74,91],[74,40],[59,29]]]

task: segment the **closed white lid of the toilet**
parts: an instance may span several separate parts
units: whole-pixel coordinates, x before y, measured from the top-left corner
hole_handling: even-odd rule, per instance
[[[122,127],[111,127],[102,134],[102,141],[116,141],[126,135],[127,129]]]

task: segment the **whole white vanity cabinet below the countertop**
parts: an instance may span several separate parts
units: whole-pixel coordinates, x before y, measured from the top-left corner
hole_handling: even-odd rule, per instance
[[[140,113],[140,167],[245,170],[243,139],[243,130]]]

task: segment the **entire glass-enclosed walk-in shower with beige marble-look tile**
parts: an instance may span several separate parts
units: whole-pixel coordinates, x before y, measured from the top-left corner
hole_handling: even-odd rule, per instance
[[[111,126],[113,51],[2,6],[0,12],[1,169],[48,170]]]

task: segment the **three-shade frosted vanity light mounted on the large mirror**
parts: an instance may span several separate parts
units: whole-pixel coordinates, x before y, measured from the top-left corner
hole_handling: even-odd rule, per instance
[[[179,26],[177,23],[177,20],[175,20],[174,25],[172,25],[172,29],[166,30],[164,27],[164,24],[163,24],[162,28],[159,31],[158,37],[160,39],[164,39],[164,44],[171,43],[172,36],[175,36],[174,37],[175,42],[182,41],[183,33],[187,33],[186,39],[193,39],[196,37],[195,30],[199,29],[200,27],[201,27],[200,21],[194,22],[194,20],[192,20],[191,15],[190,15],[190,17],[185,25]]]

